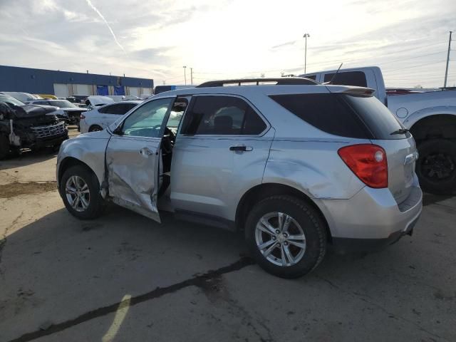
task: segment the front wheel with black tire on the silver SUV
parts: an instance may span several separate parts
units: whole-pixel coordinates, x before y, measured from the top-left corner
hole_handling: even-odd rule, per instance
[[[68,192],[67,186],[72,190],[76,190],[75,192],[79,190],[79,201],[77,203],[73,202],[73,205],[70,199],[76,200],[78,194]],[[78,187],[79,189],[77,189]],[[83,165],[69,167],[68,170],[63,172],[60,193],[68,212],[74,217],[78,217],[78,219],[95,219],[100,216],[105,207],[105,201],[100,195],[100,185],[97,177],[88,167]]]

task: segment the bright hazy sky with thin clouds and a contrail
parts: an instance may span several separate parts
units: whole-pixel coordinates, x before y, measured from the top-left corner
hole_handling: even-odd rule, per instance
[[[443,86],[455,0],[0,0],[0,64],[155,85],[380,66],[389,87]],[[456,86],[456,33],[448,86]]]

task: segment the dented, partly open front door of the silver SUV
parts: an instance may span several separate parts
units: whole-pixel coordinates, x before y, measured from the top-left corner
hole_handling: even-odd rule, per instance
[[[157,222],[160,144],[174,100],[158,98],[140,105],[114,130],[106,149],[113,202]]]

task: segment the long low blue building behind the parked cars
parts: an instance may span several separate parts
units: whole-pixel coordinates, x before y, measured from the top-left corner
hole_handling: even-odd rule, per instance
[[[0,91],[69,95],[150,95],[154,81],[147,78],[71,73],[0,66]]]

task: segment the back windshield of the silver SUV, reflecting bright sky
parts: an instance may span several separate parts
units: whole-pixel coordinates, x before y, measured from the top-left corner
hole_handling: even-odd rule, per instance
[[[403,139],[410,133],[393,134],[403,128],[393,113],[374,96],[341,95],[371,130],[376,139]]]

